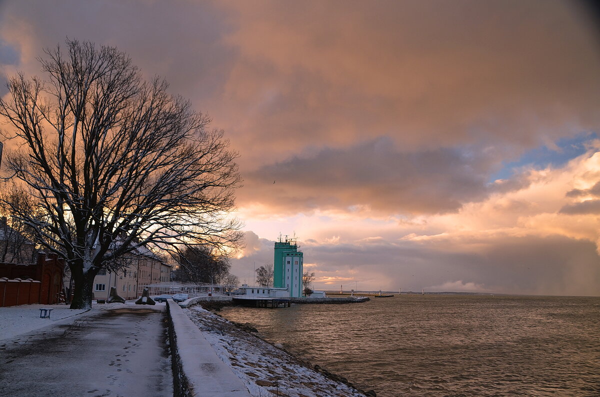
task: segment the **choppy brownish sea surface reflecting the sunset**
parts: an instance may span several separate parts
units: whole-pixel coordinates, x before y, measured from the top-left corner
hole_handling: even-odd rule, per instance
[[[378,396],[600,395],[600,298],[402,295],[226,308]]]

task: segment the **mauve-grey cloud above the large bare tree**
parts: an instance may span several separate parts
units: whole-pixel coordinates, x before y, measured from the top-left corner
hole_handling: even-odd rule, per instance
[[[25,43],[32,63],[22,67],[30,73],[39,73],[33,58],[43,47],[67,37],[94,41],[126,52],[146,76],[166,78],[197,106],[221,91],[235,55],[222,43],[229,25],[211,2],[5,1],[0,22],[11,29],[5,36]]]

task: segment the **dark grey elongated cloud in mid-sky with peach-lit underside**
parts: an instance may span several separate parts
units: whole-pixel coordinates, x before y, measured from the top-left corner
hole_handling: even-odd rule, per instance
[[[347,149],[323,148],[245,175],[253,197],[272,207],[310,211],[370,206],[387,213],[440,213],[490,191],[523,187],[487,183],[494,164],[478,149],[401,152],[380,138]],[[272,181],[276,183],[273,184]]]

